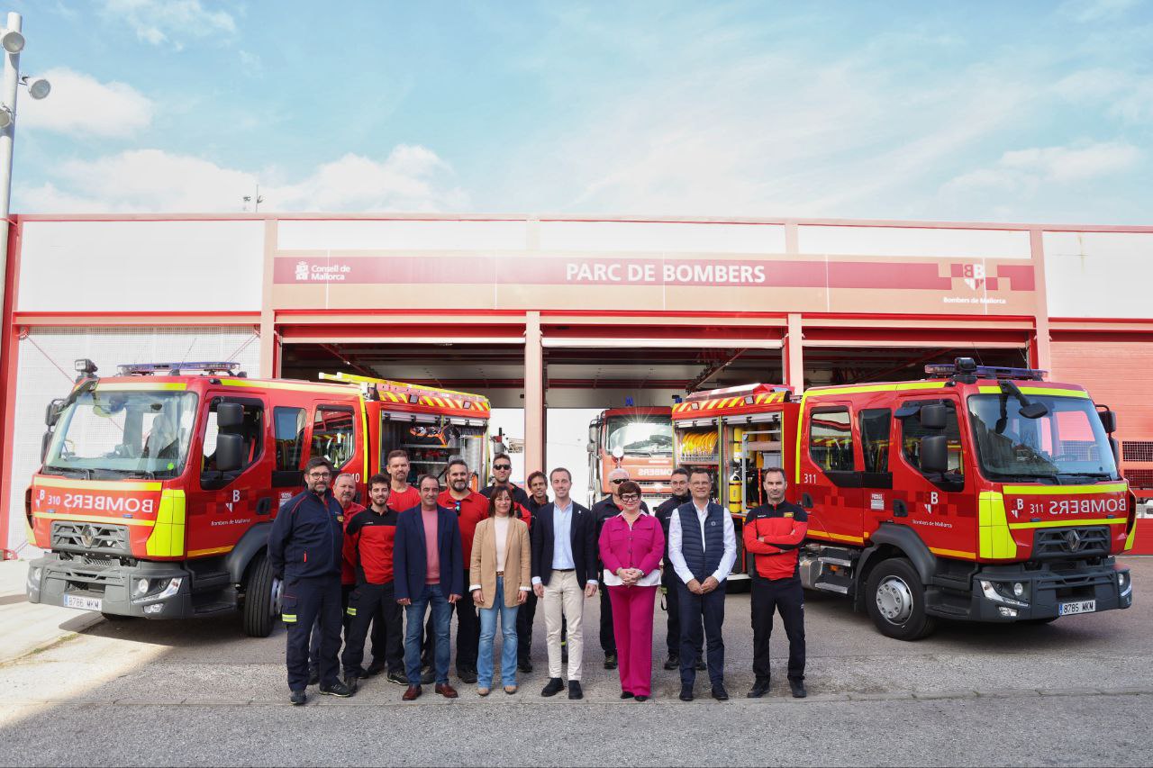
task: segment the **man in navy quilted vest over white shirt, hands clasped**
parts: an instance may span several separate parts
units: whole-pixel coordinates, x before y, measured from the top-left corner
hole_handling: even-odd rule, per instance
[[[708,472],[694,469],[688,490],[692,500],[677,507],[669,520],[669,562],[677,573],[680,601],[680,700],[693,700],[696,660],[702,640],[707,640],[713,698],[728,701],[721,627],[724,581],[737,562],[737,534],[732,515],[711,498],[713,476]]]

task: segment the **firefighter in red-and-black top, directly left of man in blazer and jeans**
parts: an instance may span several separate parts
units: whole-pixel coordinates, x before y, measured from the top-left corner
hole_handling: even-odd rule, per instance
[[[345,530],[345,560],[353,564],[356,587],[348,600],[349,626],[345,634],[341,662],[345,682],[356,686],[357,678],[371,677],[384,669],[389,680],[408,685],[405,675],[404,609],[393,589],[392,550],[400,514],[389,506],[389,477],[372,475],[368,494],[372,505],[353,518]],[[372,625],[372,664],[364,661],[364,639]]]

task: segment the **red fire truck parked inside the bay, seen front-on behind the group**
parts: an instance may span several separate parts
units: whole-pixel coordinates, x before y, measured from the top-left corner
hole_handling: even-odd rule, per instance
[[[671,408],[626,407],[602,411],[588,426],[589,504],[612,492],[609,473],[617,467],[640,483],[645,500],[669,496],[672,476]]]

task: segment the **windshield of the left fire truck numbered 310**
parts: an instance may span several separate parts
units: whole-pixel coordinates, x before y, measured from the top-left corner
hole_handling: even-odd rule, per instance
[[[61,414],[44,468],[90,479],[175,477],[195,421],[193,392],[84,392]]]

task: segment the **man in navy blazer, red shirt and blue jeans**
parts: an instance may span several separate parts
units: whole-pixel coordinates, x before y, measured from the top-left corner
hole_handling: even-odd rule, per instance
[[[457,513],[437,504],[440,483],[432,475],[422,475],[416,483],[420,506],[400,513],[392,556],[397,602],[406,607],[405,671],[408,690],[404,700],[421,695],[421,627],[424,613],[432,607],[436,634],[436,692],[455,699],[449,685],[449,619],[452,605],[465,592],[465,560]]]

